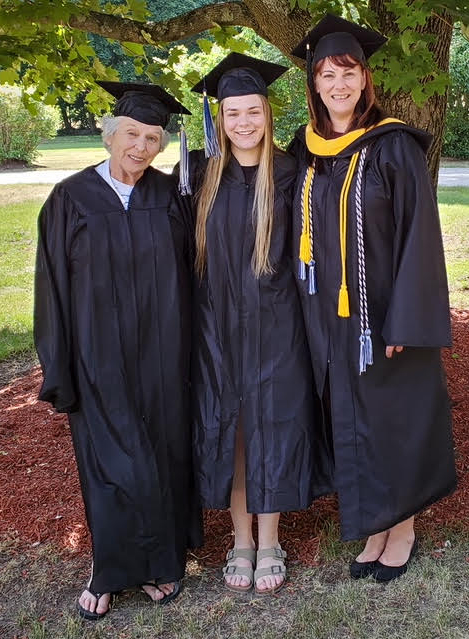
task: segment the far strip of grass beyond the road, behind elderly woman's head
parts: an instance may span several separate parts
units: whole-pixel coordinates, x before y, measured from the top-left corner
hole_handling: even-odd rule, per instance
[[[39,155],[34,166],[40,169],[84,169],[109,157],[101,136],[58,136],[39,146]],[[179,160],[179,142],[172,136],[168,147],[158,154],[153,166],[173,166]]]

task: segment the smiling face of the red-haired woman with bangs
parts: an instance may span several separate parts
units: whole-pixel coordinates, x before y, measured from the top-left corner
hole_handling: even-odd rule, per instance
[[[359,64],[343,67],[325,58],[319,66],[314,87],[327,108],[334,131],[347,130],[365,84],[365,72]]]

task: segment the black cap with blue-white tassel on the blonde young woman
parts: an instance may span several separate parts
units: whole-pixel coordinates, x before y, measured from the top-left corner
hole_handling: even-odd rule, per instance
[[[219,101],[241,95],[258,94],[267,97],[269,84],[287,69],[282,64],[266,62],[242,53],[230,53],[192,87],[192,91],[204,96],[205,157],[220,156],[207,95]]]

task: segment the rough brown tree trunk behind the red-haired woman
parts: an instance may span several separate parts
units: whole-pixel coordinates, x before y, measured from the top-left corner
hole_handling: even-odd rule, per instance
[[[370,8],[376,12],[380,30],[385,35],[395,32],[395,18],[386,11],[385,0],[370,0]],[[447,71],[449,67],[449,48],[453,32],[453,19],[449,14],[433,15],[419,29],[421,33],[432,34],[435,42],[430,47],[439,69]],[[433,135],[433,142],[428,152],[428,166],[435,186],[438,183],[441,147],[446,118],[447,92],[430,98],[423,107],[417,107],[412,98],[403,92],[391,96],[379,94],[379,100],[393,117],[404,120],[407,124],[425,129]]]

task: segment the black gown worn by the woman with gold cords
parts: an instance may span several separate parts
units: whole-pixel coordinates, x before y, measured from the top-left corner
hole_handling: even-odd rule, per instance
[[[366,133],[335,157],[317,157],[317,294],[309,295],[307,283],[298,283],[317,387],[321,395],[330,389],[334,483],[344,540],[385,530],[455,488],[440,361],[440,347],[451,343],[448,291],[435,193],[422,148],[427,144],[424,132],[394,123]],[[374,363],[360,375],[356,174],[347,224],[351,317],[338,317],[337,300],[339,195],[350,157],[364,145],[363,224]],[[301,186],[312,158],[304,128],[289,150],[299,163],[293,222],[298,278]],[[386,345],[405,348],[386,359]]]

